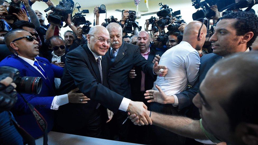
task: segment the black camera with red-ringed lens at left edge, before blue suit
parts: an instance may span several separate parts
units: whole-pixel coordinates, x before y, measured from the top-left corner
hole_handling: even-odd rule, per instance
[[[18,69],[7,66],[0,67],[0,80],[5,79],[6,77],[11,77],[13,79],[13,82],[17,85],[15,89],[19,93],[38,94],[41,91],[41,77],[20,77]],[[4,92],[0,91],[0,112],[10,110],[15,105],[16,101],[16,92],[6,92],[6,90]]]

